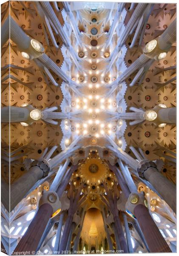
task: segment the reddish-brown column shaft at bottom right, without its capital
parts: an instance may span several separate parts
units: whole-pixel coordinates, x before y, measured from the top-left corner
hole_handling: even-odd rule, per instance
[[[139,222],[142,233],[145,236],[150,252],[171,252],[167,242],[163,238],[150,213],[148,212],[148,209],[144,205],[138,204],[134,208],[134,214]]]

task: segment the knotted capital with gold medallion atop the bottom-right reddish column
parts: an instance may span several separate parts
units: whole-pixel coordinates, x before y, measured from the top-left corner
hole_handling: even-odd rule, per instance
[[[131,193],[128,197],[128,201],[125,204],[125,208],[127,211],[134,215],[134,209],[137,205],[142,204],[145,207],[147,206],[146,199],[143,193]],[[135,216],[135,215],[134,215]]]

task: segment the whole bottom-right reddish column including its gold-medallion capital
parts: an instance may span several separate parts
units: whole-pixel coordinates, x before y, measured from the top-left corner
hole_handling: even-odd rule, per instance
[[[171,252],[148,212],[145,201],[146,199],[142,193],[131,193],[125,207],[136,217],[151,253]]]

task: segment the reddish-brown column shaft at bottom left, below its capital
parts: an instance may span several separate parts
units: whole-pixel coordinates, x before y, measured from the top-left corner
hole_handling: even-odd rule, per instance
[[[34,254],[37,250],[37,246],[43,235],[45,227],[49,218],[53,213],[53,208],[50,204],[43,204],[38,209],[34,219],[28,226],[27,232],[23,235],[20,242],[17,244],[14,252],[30,251],[29,254]]]

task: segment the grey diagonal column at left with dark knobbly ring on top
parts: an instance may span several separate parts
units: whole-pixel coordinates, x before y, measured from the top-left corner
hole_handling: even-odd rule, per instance
[[[24,198],[34,184],[48,175],[50,168],[43,162],[35,160],[31,168],[11,184],[10,211]]]

